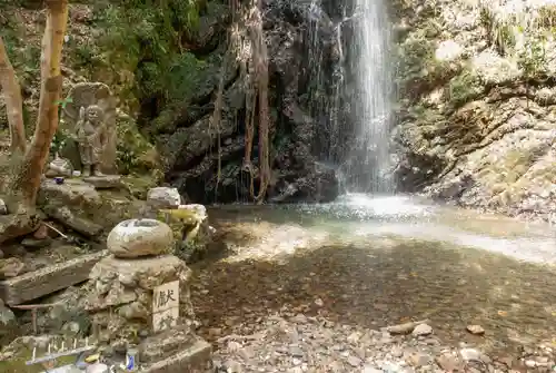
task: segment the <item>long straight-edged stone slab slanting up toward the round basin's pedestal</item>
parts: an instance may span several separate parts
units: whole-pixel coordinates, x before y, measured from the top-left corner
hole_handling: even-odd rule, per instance
[[[108,251],[87,254],[0,281],[0,298],[9,306],[14,306],[82,283],[89,278],[95,264],[107,255]]]

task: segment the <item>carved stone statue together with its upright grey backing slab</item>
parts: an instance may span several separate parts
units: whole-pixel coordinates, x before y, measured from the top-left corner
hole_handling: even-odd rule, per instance
[[[72,134],[60,150],[83,176],[115,175],[116,98],[102,82],[81,82],[71,88],[61,126]]]

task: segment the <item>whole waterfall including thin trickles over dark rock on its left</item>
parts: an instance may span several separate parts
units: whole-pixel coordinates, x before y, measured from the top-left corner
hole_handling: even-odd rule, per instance
[[[390,194],[390,22],[385,0],[354,0],[329,17],[312,0],[302,89],[315,119],[312,155],[342,193]]]

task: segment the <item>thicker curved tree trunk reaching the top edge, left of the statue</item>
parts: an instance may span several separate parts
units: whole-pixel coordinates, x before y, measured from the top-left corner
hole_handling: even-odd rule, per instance
[[[62,88],[60,62],[68,23],[68,0],[47,0],[47,27],[42,38],[41,91],[34,135],[12,180],[18,208],[33,208],[50,144],[58,129],[58,106]]]

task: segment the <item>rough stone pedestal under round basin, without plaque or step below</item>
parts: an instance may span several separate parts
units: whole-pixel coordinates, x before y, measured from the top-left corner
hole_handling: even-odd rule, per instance
[[[179,320],[182,333],[190,333],[193,311],[189,295],[191,269],[173,255],[122,259],[106,257],[89,274],[86,310],[91,313],[102,342],[138,344],[155,335],[155,289],[179,282]],[[176,297],[177,298],[177,297]]]

